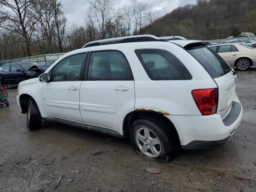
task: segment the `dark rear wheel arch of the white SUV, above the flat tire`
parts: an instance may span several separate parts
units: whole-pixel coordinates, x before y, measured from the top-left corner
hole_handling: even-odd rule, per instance
[[[123,121],[123,136],[124,138],[129,138],[129,133],[130,133],[130,126],[132,122],[134,122],[136,119],[139,119],[140,117],[143,116],[148,116],[148,117],[154,117],[159,119],[161,122],[163,122],[168,128],[172,128],[175,131],[176,137],[180,141],[180,137],[178,134],[177,129],[175,128],[174,124],[165,116],[166,114],[163,112],[156,112],[153,110],[134,110],[132,112],[129,112]]]

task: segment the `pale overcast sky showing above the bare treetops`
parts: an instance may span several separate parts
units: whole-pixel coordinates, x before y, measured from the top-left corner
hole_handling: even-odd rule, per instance
[[[128,4],[130,0],[112,0],[115,8],[119,8]],[[159,10],[159,16],[164,16],[166,13],[172,12],[172,10],[179,6],[186,4],[194,4],[196,0],[141,0]],[[84,19],[86,18],[86,12],[89,7],[89,0],[62,0],[64,14],[68,17],[68,26],[71,27],[74,24],[80,26],[84,25]]]

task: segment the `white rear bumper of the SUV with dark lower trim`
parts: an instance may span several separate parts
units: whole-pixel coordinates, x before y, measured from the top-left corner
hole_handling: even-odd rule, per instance
[[[242,121],[243,109],[235,94],[229,114],[222,120],[209,116],[166,116],[174,124],[183,149],[208,149],[229,141]]]

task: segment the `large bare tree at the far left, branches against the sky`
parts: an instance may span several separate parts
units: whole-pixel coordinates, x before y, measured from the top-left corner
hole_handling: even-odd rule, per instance
[[[4,22],[0,27],[14,33],[22,35],[26,43],[28,56],[31,56],[31,38],[35,31],[37,12],[33,9],[33,4],[41,4],[40,0],[1,0],[0,4],[4,9],[0,10],[0,15]]]

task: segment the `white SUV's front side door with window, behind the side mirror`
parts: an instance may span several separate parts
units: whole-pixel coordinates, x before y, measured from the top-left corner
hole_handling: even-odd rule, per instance
[[[79,90],[87,53],[68,56],[49,72],[50,82],[42,87],[44,108],[50,117],[83,122],[79,110]]]

